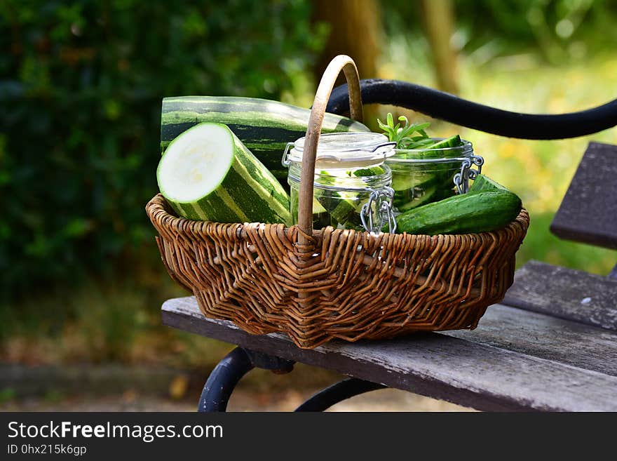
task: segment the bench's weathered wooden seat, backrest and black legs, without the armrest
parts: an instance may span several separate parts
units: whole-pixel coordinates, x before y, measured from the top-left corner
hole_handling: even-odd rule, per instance
[[[552,232],[617,248],[615,178],[617,146],[591,143]],[[393,387],[478,410],[617,411],[616,274],[531,261],[475,330],[332,341],[312,350],[299,349],[283,334],[251,335],[229,321],[206,319],[193,297],[168,300],[162,316],[167,326],[238,346],[208,378],[201,411],[224,411],[233,387],[252,368],[289,372],[294,362],[350,377],[299,410],[325,410],[350,396]]]

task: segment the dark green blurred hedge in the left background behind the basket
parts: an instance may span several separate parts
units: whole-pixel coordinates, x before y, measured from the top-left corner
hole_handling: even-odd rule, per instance
[[[1,2],[0,298],[151,242],[161,98],[277,99],[320,46],[309,8]]]

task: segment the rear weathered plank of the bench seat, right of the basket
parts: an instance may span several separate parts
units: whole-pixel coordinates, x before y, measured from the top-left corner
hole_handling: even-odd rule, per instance
[[[529,261],[515,272],[503,304],[617,330],[617,280]]]

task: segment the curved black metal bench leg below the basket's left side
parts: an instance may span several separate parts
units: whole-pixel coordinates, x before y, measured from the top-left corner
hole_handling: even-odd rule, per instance
[[[240,379],[255,367],[272,370],[274,373],[289,373],[294,368],[294,362],[236,347],[219,361],[208,376],[197,411],[225,411],[233,389]]]

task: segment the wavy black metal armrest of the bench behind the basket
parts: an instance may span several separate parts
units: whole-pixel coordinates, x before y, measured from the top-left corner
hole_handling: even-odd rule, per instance
[[[509,138],[577,138],[617,125],[617,99],[569,114],[522,114],[477,104],[400,80],[365,79],[360,81],[360,88],[365,104],[406,107],[435,119]],[[346,85],[334,88],[326,110],[334,114],[349,110]]]

